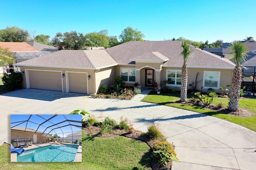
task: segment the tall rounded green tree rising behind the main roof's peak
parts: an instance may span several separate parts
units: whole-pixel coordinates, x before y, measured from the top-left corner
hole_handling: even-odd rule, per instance
[[[144,38],[145,35],[139,31],[137,28],[132,29],[131,27],[127,27],[124,29],[119,35],[120,43],[126,43],[128,41],[143,41],[142,38]]]

